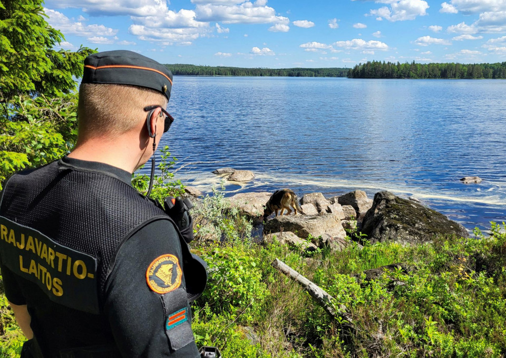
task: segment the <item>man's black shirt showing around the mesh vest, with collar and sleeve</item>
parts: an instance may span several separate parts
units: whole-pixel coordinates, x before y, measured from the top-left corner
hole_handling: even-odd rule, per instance
[[[129,172],[104,163],[68,157],[61,162],[106,172],[128,185],[131,182]],[[0,268],[7,299],[28,305],[35,338],[46,356],[59,356],[69,348],[113,343],[125,357],[198,357],[181,245],[168,219],[158,217],[138,226],[108,264],[105,283],[98,285],[99,315],[56,304],[35,283],[20,278],[2,262]],[[172,290],[156,284],[167,277],[168,281],[171,277],[179,280],[167,284]],[[164,293],[167,290],[170,292]]]

